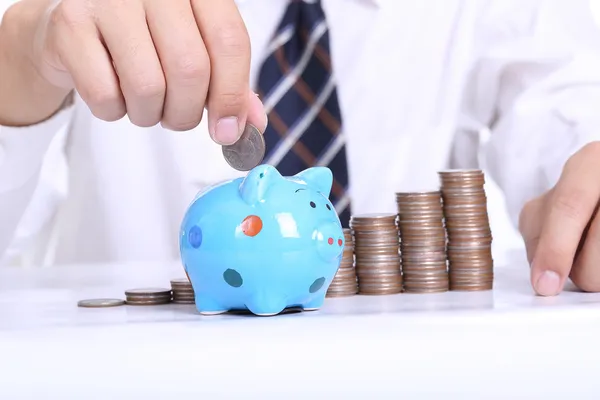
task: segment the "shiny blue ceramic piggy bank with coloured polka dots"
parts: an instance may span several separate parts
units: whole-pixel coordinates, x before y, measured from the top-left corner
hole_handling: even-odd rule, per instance
[[[267,316],[320,308],[345,245],[328,199],[332,184],[325,167],[284,177],[259,165],[198,193],[180,233],[198,311]]]

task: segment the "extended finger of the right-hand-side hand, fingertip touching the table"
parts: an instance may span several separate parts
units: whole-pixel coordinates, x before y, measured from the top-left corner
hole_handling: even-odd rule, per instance
[[[546,204],[546,220],[531,266],[531,282],[543,296],[558,294],[569,276],[581,236],[600,198],[598,144],[565,164]]]

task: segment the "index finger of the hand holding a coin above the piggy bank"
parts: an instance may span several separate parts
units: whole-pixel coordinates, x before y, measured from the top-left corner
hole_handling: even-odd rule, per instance
[[[248,114],[250,38],[234,0],[194,0],[192,5],[210,58],[208,129],[217,143],[233,144]]]

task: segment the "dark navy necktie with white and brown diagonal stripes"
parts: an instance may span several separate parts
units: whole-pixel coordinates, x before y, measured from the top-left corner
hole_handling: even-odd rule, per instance
[[[340,106],[321,2],[290,1],[258,77],[269,125],[265,163],[284,176],[326,166],[334,177],[330,200],[348,227],[350,199]]]

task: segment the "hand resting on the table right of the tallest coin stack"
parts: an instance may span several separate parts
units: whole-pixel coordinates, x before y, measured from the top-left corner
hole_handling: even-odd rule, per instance
[[[531,263],[531,284],[543,296],[563,290],[567,278],[600,291],[600,142],[567,161],[556,186],[527,203],[519,230]]]

